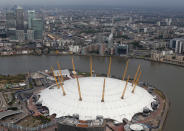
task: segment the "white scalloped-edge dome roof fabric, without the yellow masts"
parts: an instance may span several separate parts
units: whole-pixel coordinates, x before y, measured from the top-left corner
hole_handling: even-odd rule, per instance
[[[131,83],[128,83],[124,99],[121,99],[126,82],[106,78],[104,102],[101,102],[104,77],[83,77],[79,78],[79,82],[82,101],[79,101],[76,79],[64,82],[66,96],[63,96],[61,88],[54,86],[53,89],[42,90],[39,101],[49,108],[50,114],[56,113],[57,117],[77,113],[80,120],[93,120],[102,115],[119,122],[123,118],[131,120],[144,107],[151,109],[151,102],[154,101],[153,96],[142,87],[137,86],[133,94]]]

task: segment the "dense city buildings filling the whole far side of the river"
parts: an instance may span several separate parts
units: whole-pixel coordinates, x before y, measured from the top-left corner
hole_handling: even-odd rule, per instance
[[[174,11],[150,10],[147,15],[146,9],[16,7],[2,10],[0,17],[1,55],[94,54],[156,60],[162,59],[162,51],[173,51],[176,58],[184,54],[183,18]]]

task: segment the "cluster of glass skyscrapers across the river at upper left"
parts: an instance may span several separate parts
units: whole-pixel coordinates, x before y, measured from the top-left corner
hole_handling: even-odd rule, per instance
[[[2,23],[2,22],[1,22]],[[4,28],[1,25],[1,35],[12,42],[42,40],[44,23],[36,16],[35,10],[27,12],[20,6],[6,10]]]

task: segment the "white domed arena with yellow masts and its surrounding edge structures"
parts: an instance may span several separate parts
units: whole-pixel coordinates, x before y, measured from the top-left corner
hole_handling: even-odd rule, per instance
[[[127,75],[128,61],[121,79],[110,77],[111,57],[106,77],[93,72],[92,58],[86,77],[76,72],[73,57],[70,73],[64,74],[57,65],[58,70],[51,67],[55,84],[37,94],[37,103],[55,115],[59,131],[149,131],[150,123],[161,122],[155,116],[163,111],[164,100],[153,88],[141,86],[140,65],[132,79]]]

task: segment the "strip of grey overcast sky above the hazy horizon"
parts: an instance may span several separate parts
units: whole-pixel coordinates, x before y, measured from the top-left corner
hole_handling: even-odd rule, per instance
[[[184,0],[0,0],[0,5],[118,5],[184,7]]]

